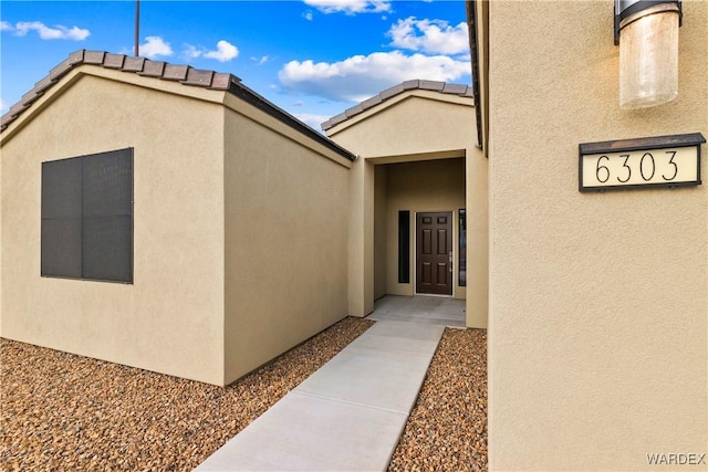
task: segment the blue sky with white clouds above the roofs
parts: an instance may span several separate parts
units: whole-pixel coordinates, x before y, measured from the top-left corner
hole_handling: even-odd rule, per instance
[[[0,107],[69,53],[133,54],[135,2],[0,2]],[[470,84],[462,0],[140,1],[140,55],[230,72],[315,129],[410,78]]]

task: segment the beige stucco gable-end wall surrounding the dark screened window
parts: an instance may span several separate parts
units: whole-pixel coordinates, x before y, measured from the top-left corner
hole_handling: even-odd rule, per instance
[[[222,107],[137,86],[188,88],[178,83],[96,71],[106,78],[70,73],[71,87],[54,85],[3,133],[2,336],[220,384]],[[110,80],[119,74],[136,85]],[[126,147],[134,284],[41,277],[41,162]]]

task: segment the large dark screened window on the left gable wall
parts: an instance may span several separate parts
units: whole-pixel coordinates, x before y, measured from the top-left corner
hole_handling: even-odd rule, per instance
[[[133,149],[42,162],[42,275],[133,282]]]

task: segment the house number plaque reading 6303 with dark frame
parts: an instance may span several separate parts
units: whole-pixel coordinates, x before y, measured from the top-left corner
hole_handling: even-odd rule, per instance
[[[580,191],[698,186],[700,133],[579,145]]]

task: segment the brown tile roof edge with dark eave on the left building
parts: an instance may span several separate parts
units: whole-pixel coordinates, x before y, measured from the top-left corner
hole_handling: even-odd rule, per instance
[[[202,71],[189,65],[175,65],[162,61],[150,61],[145,57],[135,57],[125,54],[112,54],[105,51],[79,50],[69,54],[62,63],[52,69],[44,78],[34,84],[34,87],[22,95],[20,102],[10,107],[8,113],[0,118],[0,133],[4,132],[10,123],[14,122],[33,102],[40,98],[50,87],[56,84],[72,69],[83,64],[100,65],[105,69],[114,69],[121,72],[138,74],[156,80],[179,82],[184,85],[198,86],[217,91],[228,91],[239,98],[248,102],[260,111],[275,119],[294,128],[295,130],[320,141],[331,150],[343,157],[354,160],[356,156],[339,146],[326,136],[312,129],[288,112],[279,108],[252,90],[241,83],[233,74]]]

